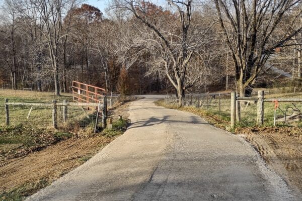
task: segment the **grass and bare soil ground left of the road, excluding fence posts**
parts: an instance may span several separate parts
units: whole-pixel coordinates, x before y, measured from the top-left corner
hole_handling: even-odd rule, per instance
[[[114,119],[111,129],[95,134],[95,110],[80,107],[68,108],[69,121],[58,130],[51,126],[51,109],[36,107],[27,119],[30,107],[10,107],[11,125],[6,126],[4,98],[23,103],[72,101],[71,95],[64,93],[54,96],[47,92],[0,90],[0,200],[25,199],[85,163],[126,130],[127,117],[123,115],[124,120]],[[120,115],[127,104],[118,103],[110,115]]]

